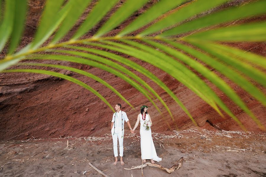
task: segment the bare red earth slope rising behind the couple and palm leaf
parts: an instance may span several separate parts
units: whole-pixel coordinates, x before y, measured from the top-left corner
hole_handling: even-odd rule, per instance
[[[106,36],[113,36],[121,31],[126,25],[132,22],[137,16],[145,12],[150,6],[157,1],[150,1],[132,17],[123,22],[119,27],[109,32]],[[93,7],[96,1],[93,1],[86,12],[78,20],[77,24],[72,28],[69,34],[62,40],[66,41],[77,30],[79,25],[86,18],[87,13]],[[102,24],[111,16],[119,6],[123,5],[124,1],[120,1],[110,13],[92,30],[90,30],[84,38],[90,37],[100,28]],[[243,3],[242,1],[234,1],[226,6],[234,6],[235,4]],[[27,45],[33,39],[33,34],[38,27],[41,11],[44,3],[41,0],[32,0],[29,3],[28,19],[25,26],[24,37],[22,38],[19,49]],[[224,7],[222,7],[224,8]],[[248,21],[264,21],[265,16],[256,17],[251,19],[239,20],[235,24],[248,22]],[[230,24],[230,23],[229,23]],[[140,32],[141,29],[137,32]],[[137,34],[133,32],[132,34]],[[228,45],[243,49],[245,51],[253,52],[262,56],[266,56],[265,43],[228,43]],[[1,58],[5,56],[7,51],[1,53]],[[139,65],[147,68],[150,72],[154,73],[161,81],[163,81],[176,96],[183,102],[186,108],[191,113],[192,117],[196,120],[199,127],[205,127],[211,124],[216,129],[220,130],[241,130],[238,124],[233,121],[224,112],[224,117],[221,117],[215,110],[206,104],[200,97],[194,94],[191,90],[186,88],[182,83],[175,80],[173,77],[156,68],[155,66],[142,62],[139,59],[131,56],[122,55]],[[152,60],[152,58],[151,58]],[[102,94],[107,101],[113,106],[116,103],[122,104],[122,110],[125,111],[129,117],[132,127],[135,124],[137,115],[140,113],[142,105],[149,106],[149,113],[153,119],[153,131],[164,132],[169,130],[181,130],[193,126],[192,121],[184,113],[184,111],[171,99],[171,97],[161,89],[156,83],[142,74],[128,68],[130,71],[137,74],[145,82],[147,82],[166,102],[170,108],[174,121],[171,119],[167,110],[158,101],[155,103],[160,108],[160,114],[154,106],[140,94],[137,89],[126,83],[124,80],[111,73],[94,68],[87,65],[80,65],[69,62],[61,61],[42,61],[43,63],[63,64],[75,68],[82,69],[90,72],[108,82],[115,89],[117,89],[133,106],[132,109],[129,105],[124,103],[116,94],[110,91],[100,83],[82,76],[77,73],[61,70],[50,69],[67,74],[77,78]],[[167,62],[167,61],[166,61]],[[189,68],[189,66],[187,66]],[[208,67],[208,66],[207,66]],[[18,66],[12,66],[18,68]],[[33,67],[27,67],[33,68]],[[190,68],[191,69],[191,68]],[[210,68],[212,69],[212,68]],[[248,108],[266,127],[265,117],[266,109],[259,101],[254,99],[250,94],[246,93],[240,86],[233,83],[231,80],[220,74],[218,71],[213,70],[219,77],[221,77],[229,86],[240,96],[246,103]],[[257,124],[241,110],[235,103],[233,103],[225,94],[223,94],[216,86],[208,81],[203,76],[200,76],[224,101],[234,115],[244,124],[249,131],[259,132],[262,131],[258,128]],[[263,93],[266,90],[263,86],[250,80],[257,86]],[[112,110],[101,101],[97,96],[84,89],[83,87],[62,80],[52,76],[32,74],[32,73],[1,73],[0,74],[0,140],[22,140],[33,137],[48,138],[48,137],[67,137],[67,136],[91,136],[103,135],[110,133]],[[169,126],[168,126],[169,124]]]

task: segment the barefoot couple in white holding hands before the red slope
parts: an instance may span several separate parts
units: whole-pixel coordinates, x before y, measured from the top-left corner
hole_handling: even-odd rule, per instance
[[[150,118],[150,114],[148,114],[147,112],[148,106],[145,105],[141,106],[140,114],[138,114],[137,122],[133,129],[131,128],[126,113],[121,110],[121,104],[119,103],[116,104],[115,109],[116,112],[113,114],[113,119],[111,123],[111,133],[113,138],[113,153],[115,156],[115,162],[113,163],[113,165],[116,165],[118,162],[117,139],[119,141],[120,163],[121,165],[125,164],[123,161],[124,122],[126,122],[127,125],[129,126],[131,133],[134,133],[134,130],[136,130],[137,126],[140,123],[140,148],[141,148],[141,159],[143,160],[143,163],[146,163],[147,159],[149,159],[151,163],[155,163],[154,160],[157,162],[161,161],[162,159],[157,156],[153,144],[153,139],[150,129],[152,125],[152,120]]]

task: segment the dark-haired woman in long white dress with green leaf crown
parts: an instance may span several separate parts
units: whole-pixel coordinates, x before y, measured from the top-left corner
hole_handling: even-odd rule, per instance
[[[148,106],[145,106],[145,105],[141,106],[140,114],[137,117],[137,122],[132,132],[134,132],[134,130],[137,128],[140,122],[141,158],[143,160],[143,163],[146,163],[146,159],[150,159],[151,163],[155,163],[154,160],[157,162],[160,162],[162,158],[159,158],[156,154],[150,128],[149,130],[146,130],[146,127],[143,126],[145,120],[150,121],[152,123],[150,114],[148,114],[147,110],[148,110]]]

